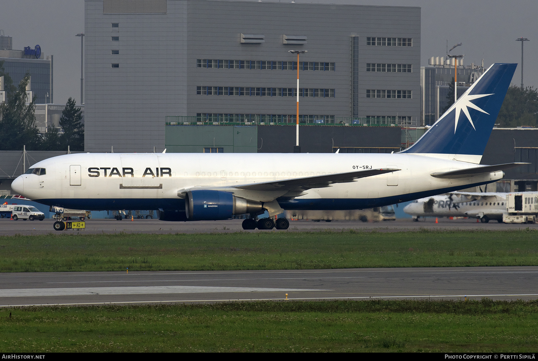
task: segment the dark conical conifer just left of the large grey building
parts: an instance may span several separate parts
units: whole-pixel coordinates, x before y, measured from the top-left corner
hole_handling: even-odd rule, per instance
[[[63,148],[69,146],[71,150],[84,150],[82,111],[75,105],[75,99],[69,98],[65,109],[62,111],[60,126],[63,129],[63,134],[60,135],[60,143]]]

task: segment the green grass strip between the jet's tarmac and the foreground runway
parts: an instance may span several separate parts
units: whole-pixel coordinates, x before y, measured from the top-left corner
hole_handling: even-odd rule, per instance
[[[1,236],[0,272],[538,265],[538,232]]]

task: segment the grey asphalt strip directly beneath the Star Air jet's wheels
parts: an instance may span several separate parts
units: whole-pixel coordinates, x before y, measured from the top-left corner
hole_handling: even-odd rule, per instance
[[[9,219],[0,219],[0,235],[33,235],[33,234],[48,234],[48,233],[80,233],[80,234],[96,234],[96,233],[216,233],[216,232],[273,232],[273,230],[247,230],[244,231],[241,227],[243,220],[232,219],[225,221],[196,221],[196,222],[165,222],[157,219],[135,219],[117,221],[115,219],[89,219],[86,221],[86,229],[83,230],[63,230],[55,231],[52,228],[53,219],[45,219],[43,221],[12,221]],[[275,232],[300,232],[300,231],[319,231],[319,230],[342,230],[342,229],[358,229],[358,230],[378,230],[379,232],[402,232],[416,231],[420,228],[427,229],[461,229],[461,230],[516,230],[525,228],[537,228],[538,224],[505,224],[497,221],[489,223],[477,223],[476,219],[457,219],[450,220],[447,218],[438,219],[435,223],[435,218],[427,218],[419,222],[413,222],[412,219],[398,219],[395,221],[383,222],[361,222],[361,221],[332,221],[332,222],[313,222],[307,220],[299,220],[289,222],[287,230],[276,230]]]

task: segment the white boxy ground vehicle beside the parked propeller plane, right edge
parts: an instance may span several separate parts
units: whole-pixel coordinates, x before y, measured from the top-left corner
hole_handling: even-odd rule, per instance
[[[519,192],[506,195],[504,223],[535,223],[538,215],[538,193]]]

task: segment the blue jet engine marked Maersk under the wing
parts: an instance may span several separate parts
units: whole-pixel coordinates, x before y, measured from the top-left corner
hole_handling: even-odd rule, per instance
[[[236,214],[263,213],[263,203],[214,190],[189,191],[185,197],[185,213],[189,221],[230,219]]]

